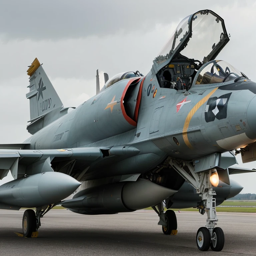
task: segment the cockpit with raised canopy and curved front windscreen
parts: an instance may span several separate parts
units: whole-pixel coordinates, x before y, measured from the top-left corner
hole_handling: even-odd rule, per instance
[[[189,90],[247,78],[227,62],[214,60],[228,41],[224,21],[216,13],[205,10],[184,18],[153,61],[160,87]]]

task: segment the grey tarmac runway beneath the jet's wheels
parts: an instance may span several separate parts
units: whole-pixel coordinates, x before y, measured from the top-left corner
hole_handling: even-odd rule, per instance
[[[0,210],[0,255],[256,255],[256,214],[218,213],[224,230],[222,252],[201,252],[196,232],[206,214],[177,213],[178,234],[164,235],[154,211],[87,216],[51,210],[37,238],[18,237],[24,210]]]

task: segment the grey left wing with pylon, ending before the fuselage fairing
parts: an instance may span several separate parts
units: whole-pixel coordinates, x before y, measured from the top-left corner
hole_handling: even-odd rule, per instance
[[[76,160],[82,159],[84,164],[89,166],[102,157],[103,153],[97,147],[46,150],[0,149],[0,179],[4,178],[9,170],[13,178],[17,179],[24,175],[54,171],[52,165],[58,168],[56,171],[64,172],[69,169],[70,175],[72,163]]]

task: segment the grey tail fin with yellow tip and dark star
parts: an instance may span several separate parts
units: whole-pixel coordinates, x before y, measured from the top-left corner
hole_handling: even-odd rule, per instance
[[[30,121],[63,106],[42,65],[37,58],[27,70],[29,77]]]

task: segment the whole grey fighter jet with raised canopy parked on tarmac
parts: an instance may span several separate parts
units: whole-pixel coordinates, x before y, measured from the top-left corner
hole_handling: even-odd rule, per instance
[[[26,95],[32,136],[0,145],[0,178],[9,170],[14,178],[0,186],[0,208],[36,208],[22,221],[24,236],[36,237],[40,218],[56,204],[88,215],[152,206],[166,235],[177,234],[170,208],[196,207],[207,214],[198,249],[221,251],[215,207],[242,189],[230,174],[253,171],[233,166],[235,154],[256,160],[256,83],[216,60],[228,41],[216,13],[189,15],[146,76],[106,74],[101,90],[97,77],[96,96],[73,110],[35,59]]]

